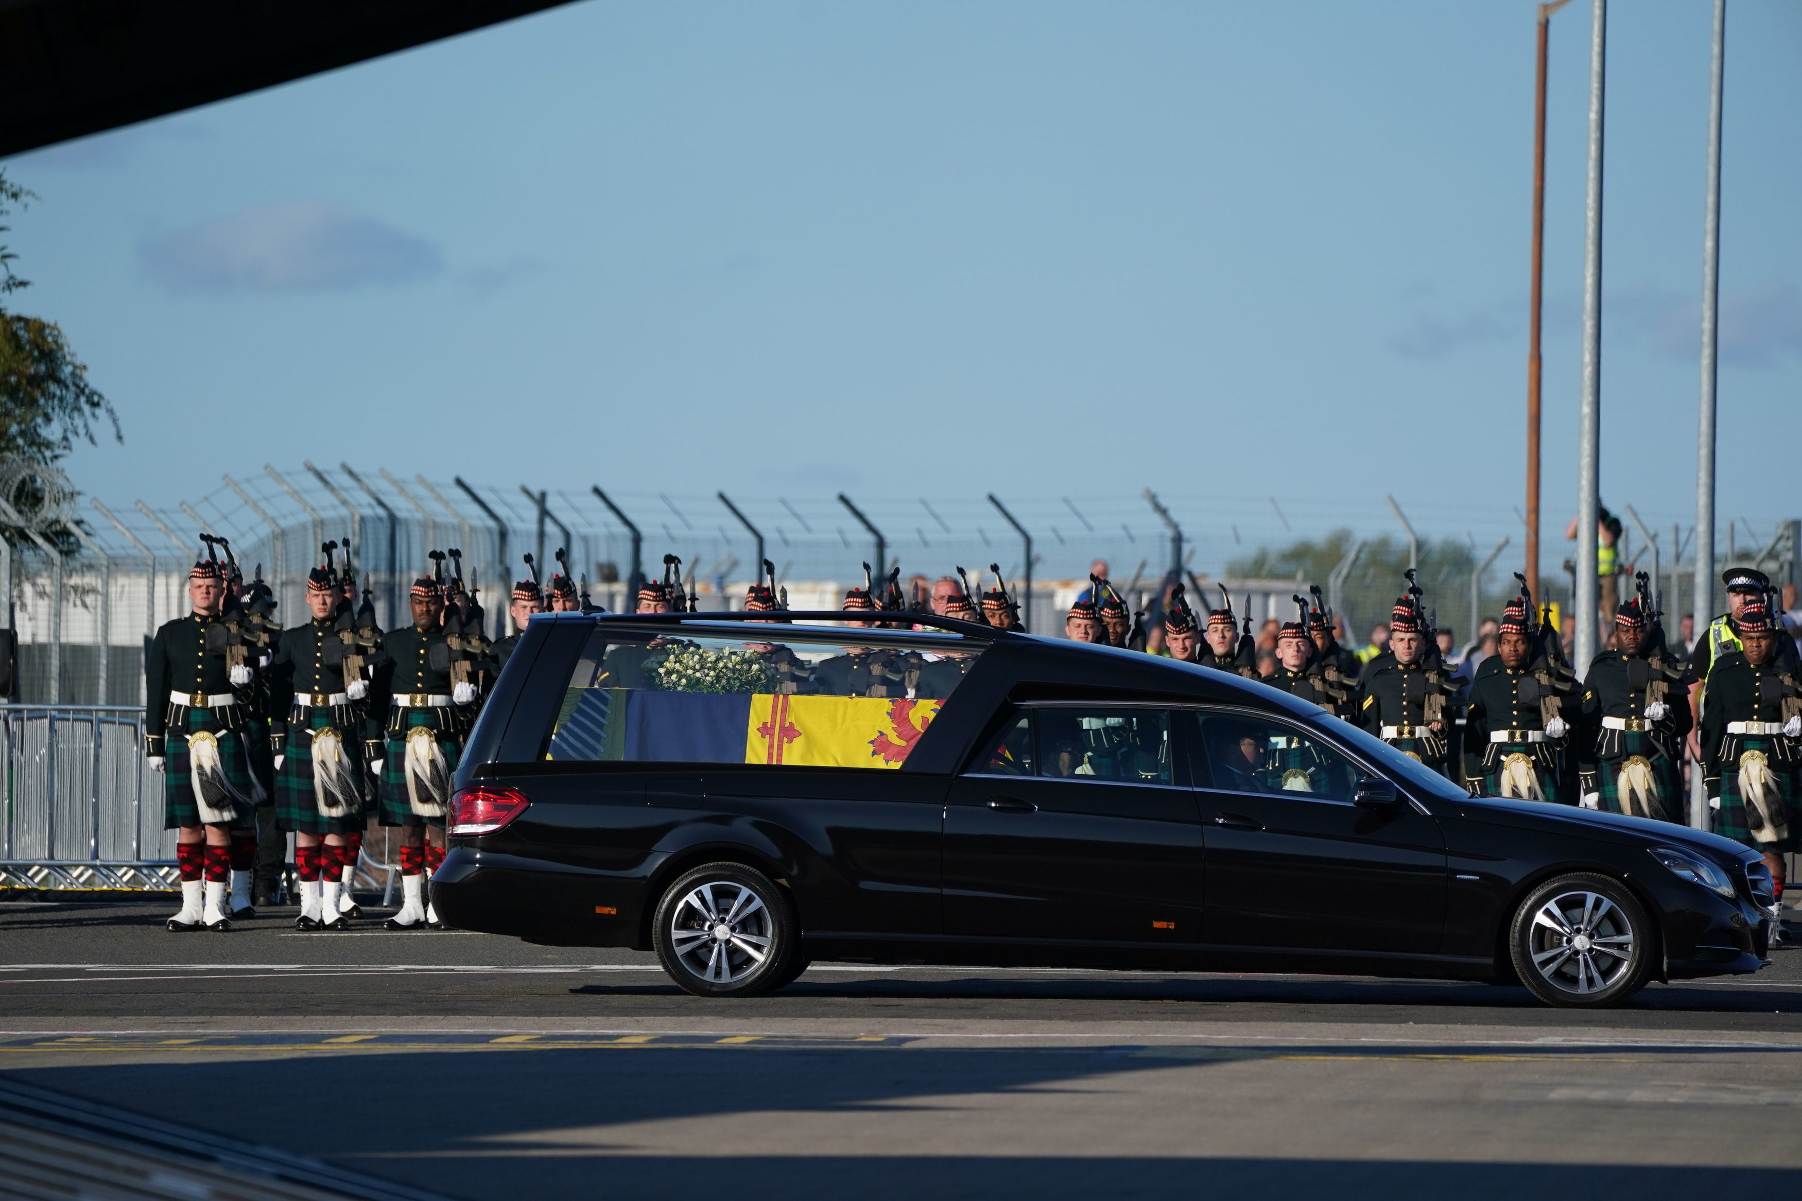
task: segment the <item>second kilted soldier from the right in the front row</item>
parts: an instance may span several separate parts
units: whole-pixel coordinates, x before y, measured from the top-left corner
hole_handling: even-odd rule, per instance
[[[1584,808],[1681,825],[1681,754],[1690,709],[1685,670],[1665,655],[1656,618],[1642,598],[1629,600],[1615,610],[1615,650],[1604,650],[1589,664],[1579,789]]]

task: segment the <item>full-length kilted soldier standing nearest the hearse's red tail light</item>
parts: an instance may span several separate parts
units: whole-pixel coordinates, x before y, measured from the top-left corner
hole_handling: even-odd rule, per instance
[[[432,558],[438,573],[413,582],[413,625],[382,637],[387,663],[371,690],[378,711],[387,711],[384,740],[366,749],[380,765],[378,817],[384,826],[400,828],[404,897],[387,929],[438,926],[438,915],[425,898],[425,877],[443,862],[450,774],[463,747],[465,715],[478,699],[474,682],[452,679],[452,668],[463,664],[452,663],[441,625],[443,556],[434,551]]]

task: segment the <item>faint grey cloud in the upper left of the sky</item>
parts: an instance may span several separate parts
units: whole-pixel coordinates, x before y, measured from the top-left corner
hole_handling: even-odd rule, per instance
[[[443,268],[431,241],[323,200],[245,209],[150,238],[139,243],[139,261],[177,293],[337,292]]]

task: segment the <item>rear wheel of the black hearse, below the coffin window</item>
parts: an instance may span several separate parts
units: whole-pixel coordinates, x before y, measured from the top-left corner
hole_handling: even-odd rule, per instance
[[[795,913],[762,871],[710,862],[663,893],[652,918],[663,971],[703,998],[760,996],[789,983],[800,954]]]

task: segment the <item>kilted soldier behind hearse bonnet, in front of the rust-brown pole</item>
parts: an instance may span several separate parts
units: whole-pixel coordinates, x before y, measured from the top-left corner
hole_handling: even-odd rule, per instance
[[[1389,645],[1397,627],[1389,625]],[[1570,803],[1562,787],[1562,742],[1570,736],[1564,699],[1546,672],[1534,672],[1541,650],[1528,605],[1501,614],[1499,650],[1470,682],[1465,709],[1465,787],[1472,796]]]

